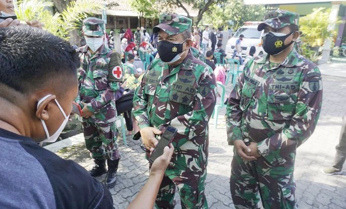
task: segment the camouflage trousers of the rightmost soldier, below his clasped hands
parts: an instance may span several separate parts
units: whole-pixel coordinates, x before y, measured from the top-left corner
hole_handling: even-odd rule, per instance
[[[255,162],[264,209],[297,209],[293,168],[276,166],[263,170],[264,159]],[[267,165],[267,163],[266,163]],[[244,161],[236,153],[232,160],[230,189],[236,209],[260,209],[258,181],[252,162]],[[292,172],[286,172],[292,170]]]

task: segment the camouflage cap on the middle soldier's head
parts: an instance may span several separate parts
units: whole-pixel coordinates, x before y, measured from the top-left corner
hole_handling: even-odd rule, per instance
[[[169,35],[180,34],[184,31],[191,32],[192,20],[182,15],[163,13],[159,16],[159,25],[153,28],[154,33],[161,30]]]

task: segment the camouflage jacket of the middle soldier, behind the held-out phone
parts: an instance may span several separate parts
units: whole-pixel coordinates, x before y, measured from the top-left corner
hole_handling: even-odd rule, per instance
[[[178,129],[173,139],[173,166],[184,170],[183,162],[184,168],[204,171],[208,122],[216,103],[213,70],[194,58],[191,51],[175,67],[156,59],[148,69],[133,98],[133,115],[139,127],[162,129],[171,125]]]

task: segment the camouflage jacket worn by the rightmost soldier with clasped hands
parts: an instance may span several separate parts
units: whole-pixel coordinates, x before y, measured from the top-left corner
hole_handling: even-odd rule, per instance
[[[248,138],[258,142],[270,164],[294,162],[296,148],[315,129],[321,105],[320,71],[296,50],[271,69],[269,56],[252,59],[228,100],[228,143]]]

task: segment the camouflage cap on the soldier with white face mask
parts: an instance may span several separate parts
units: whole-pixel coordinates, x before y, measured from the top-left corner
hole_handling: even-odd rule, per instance
[[[96,17],[88,17],[83,20],[82,31],[87,36],[102,36],[104,33],[104,22]]]

